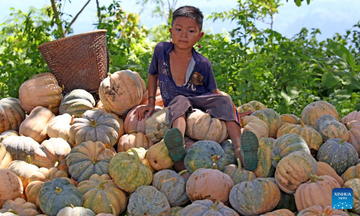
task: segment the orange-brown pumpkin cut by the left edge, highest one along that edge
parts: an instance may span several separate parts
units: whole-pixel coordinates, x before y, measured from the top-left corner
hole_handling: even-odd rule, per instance
[[[20,124],[25,120],[25,111],[16,98],[0,100],[0,134],[7,130],[19,131]]]

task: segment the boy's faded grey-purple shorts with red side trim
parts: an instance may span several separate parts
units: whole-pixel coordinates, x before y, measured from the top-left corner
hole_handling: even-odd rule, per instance
[[[213,94],[194,97],[179,95],[171,100],[167,108],[169,109],[168,120],[171,125],[176,118],[183,114],[194,112],[193,108],[200,109],[220,120],[236,121],[240,125],[239,113],[231,98],[225,95]]]

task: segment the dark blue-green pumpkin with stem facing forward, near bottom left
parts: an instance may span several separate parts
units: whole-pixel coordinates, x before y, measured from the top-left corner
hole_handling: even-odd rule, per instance
[[[38,198],[41,210],[49,216],[56,216],[62,208],[71,204],[82,206],[84,201],[80,190],[75,185],[60,178],[46,181],[40,189]]]

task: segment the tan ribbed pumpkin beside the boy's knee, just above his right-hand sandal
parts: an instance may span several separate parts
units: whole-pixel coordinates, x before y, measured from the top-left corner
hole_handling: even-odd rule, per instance
[[[256,116],[244,116],[241,118],[242,131],[253,132],[257,139],[267,137],[269,135],[269,128],[266,123]],[[242,132],[241,131],[241,132]]]

